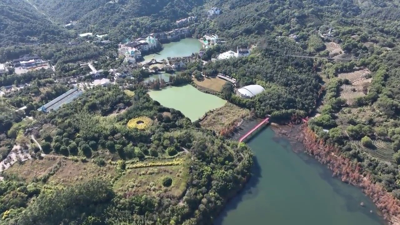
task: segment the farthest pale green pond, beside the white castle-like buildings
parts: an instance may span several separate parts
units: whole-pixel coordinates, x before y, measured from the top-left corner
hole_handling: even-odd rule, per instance
[[[150,61],[153,58],[157,61],[167,59],[168,57],[190,56],[192,53],[198,52],[203,44],[196,38],[184,38],[178,42],[170,42],[162,45],[162,50],[158,53],[143,56],[144,61]]]

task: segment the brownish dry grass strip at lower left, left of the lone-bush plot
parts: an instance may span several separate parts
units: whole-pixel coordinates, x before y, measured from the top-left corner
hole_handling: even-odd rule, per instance
[[[44,159],[33,159],[24,163],[16,163],[4,171],[7,175],[20,177],[32,181],[35,177],[40,179],[51,171],[48,182],[56,185],[70,185],[76,182],[85,182],[93,178],[112,179],[117,173],[112,165],[99,167],[94,163],[82,163],[58,156],[46,156]]]

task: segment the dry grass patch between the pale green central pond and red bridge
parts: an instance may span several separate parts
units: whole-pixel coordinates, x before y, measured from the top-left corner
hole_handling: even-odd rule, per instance
[[[241,118],[248,115],[250,115],[250,110],[240,108],[231,103],[226,103],[221,108],[207,115],[207,117],[200,122],[200,125],[206,129],[220,131],[236,121],[240,122]]]

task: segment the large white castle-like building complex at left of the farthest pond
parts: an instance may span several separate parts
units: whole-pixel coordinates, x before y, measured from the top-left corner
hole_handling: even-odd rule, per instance
[[[160,42],[152,36],[146,38],[138,38],[133,42],[118,45],[118,52],[124,55],[125,59],[130,63],[135,63],[136,60],[142,58],[142,52],[148,52],[158,48]]]

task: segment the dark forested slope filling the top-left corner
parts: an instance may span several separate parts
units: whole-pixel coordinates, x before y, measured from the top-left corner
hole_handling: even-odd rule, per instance
[[[0,2],[0,47],[14,44],[60,42],[68,39],[68,32],[52,24],[26,1]]]

